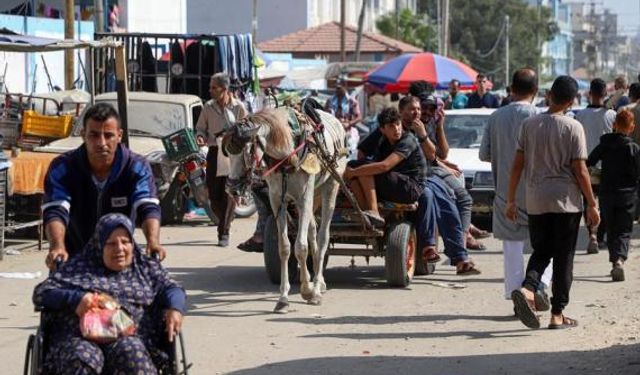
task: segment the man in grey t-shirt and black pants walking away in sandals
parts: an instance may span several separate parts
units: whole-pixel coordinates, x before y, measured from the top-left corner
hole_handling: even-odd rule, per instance
[[[587,224],[598,225],[598,205],[591,190],[587,144],[580,123],[564,112],[578,93],[569,76],[556,78],[551,86],[551,105],[543,114],[524,121],[513,160],[506,216],[516,221],[516,190],[524,172],[526,209],[533,254],[529,258],[522,288],[511,298],[516,315],[529,328],[539,328],[534,293],[544,270],[553,259],[550,329],[569,328],[578,322],[564,315],[573,282],[573,258],[582,213],[587,199]]]

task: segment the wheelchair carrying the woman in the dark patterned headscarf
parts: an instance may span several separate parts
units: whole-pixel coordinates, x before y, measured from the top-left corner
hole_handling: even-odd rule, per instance
[[[24,375],[41,375],[45,374],[44,359],[46,358],[47,348],[47,321],[46,310],[36,306],[36,312],[40,312],[40,325],[36,333],[29,335],[27,341],[27,351],[24,359]],[[182,332],[179,332],[172,343],[165,340],[168,348],[169,370],[159,372],[162,375],[188,375],[191,363],[187,361],[185,353],[184,338]]]

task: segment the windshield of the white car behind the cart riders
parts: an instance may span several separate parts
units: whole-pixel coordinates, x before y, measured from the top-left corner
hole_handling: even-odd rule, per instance
[[[488,120],[489,116],[486,115],[447,115],[444,129],[449,147],[480,148]]]

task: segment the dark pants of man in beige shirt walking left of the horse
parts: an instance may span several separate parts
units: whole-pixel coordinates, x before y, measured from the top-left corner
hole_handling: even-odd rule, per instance
[[[207,153],[207,190],[211,209],[218,217],[218,239],[220,236],[229,235],[229,228],[233,221],[233,211],[236,201],[227,193],[227,176],[216,177],[218,169],[218,147],[209,147]]]

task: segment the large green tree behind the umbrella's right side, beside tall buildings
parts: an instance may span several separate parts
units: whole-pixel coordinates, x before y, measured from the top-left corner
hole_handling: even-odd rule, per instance
[[[420,0],[419,9],[435,18],[437,0]],[[509,15],[509,66],[537,68],[543,63],[540,47],[558,32],[547,7],[538,9],[524,0],[449,0],[450,53],[504,86],[505,44],[500,30]],[[495,48],[494,48],[495,47]],[[490,52],[490,53],[489,53]]]

